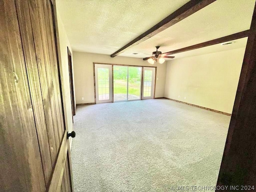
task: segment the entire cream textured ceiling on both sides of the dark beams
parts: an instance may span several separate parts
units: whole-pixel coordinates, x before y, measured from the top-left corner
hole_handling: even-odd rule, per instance
[[[72,49],[109,55],[186,2],[188,0],[56,0]],[[143,58],[158,45],[160,51],[168,52],[248,30],[254,4],[255,0],[217,0],[120,56]],[[177,54],[176,58],[241,48],[246,46],[246,41],[247,38],[243,38],[230,46],[200,48]],[[134,52],[138,54],[132,54]]]

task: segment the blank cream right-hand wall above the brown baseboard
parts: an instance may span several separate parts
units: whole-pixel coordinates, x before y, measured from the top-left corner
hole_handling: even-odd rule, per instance
[[[164,96],[231,114],[244,51],[239,48],[168,61]]]

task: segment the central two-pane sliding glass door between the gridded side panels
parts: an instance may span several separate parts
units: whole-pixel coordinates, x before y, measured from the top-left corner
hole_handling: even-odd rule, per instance
[[[142,67],[113,66],[114,102],[140,100]]]

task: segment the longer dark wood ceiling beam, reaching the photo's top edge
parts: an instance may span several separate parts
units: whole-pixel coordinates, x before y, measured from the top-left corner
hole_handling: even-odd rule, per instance
[[[170,14],[168,17],[164,18],[162,21],[160,21],[158,24],[120,48],[118,51],[114,52],[111,57],[115,57],[122,52],[124,52],[126,49],[137,45],[150,37],[162,32],[163,30],[169,28],[170,26],[180,22],[184,18],[187,18],[188,16],[192,15],[193,13],[197,12],[198,10],[206,7],[207,5],[211,4],[216,0],[190,0],[188,3],[186,3],[184,6]]]

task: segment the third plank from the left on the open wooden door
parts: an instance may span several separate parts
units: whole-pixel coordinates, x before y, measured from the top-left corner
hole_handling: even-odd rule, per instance
[[[44,49],[43,49],[43,42],[42,42],[42,22],[40,22],[40,16],[38,14],[38,1],[29,0],[30,6],[30,18],[34,36],[34,44],[36,50],[36,59],[38,63],[38,72],[40,77],[40,85],[42,91],[42,101],[44,104],[44,114],[46,119],[46,126],[47,126],[47,133],[48,133],[48,141],[50,146],[50,154],[52,159],[52,166],[55,163],[57,150],[56,150],[56,143],[54,138],[54,126],[52,120],[52,109],[50,104],[50,88],[48,87],[48,79],[46,75],[46,62],[44,56]],[[46,182],[48,184],[48,182]]]

